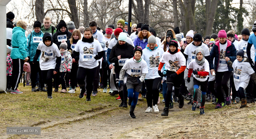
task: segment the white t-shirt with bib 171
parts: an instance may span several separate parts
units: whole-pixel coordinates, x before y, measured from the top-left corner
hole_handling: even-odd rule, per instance
[[[53,43],[51,46],[46,46],[43,42],[38,44],[38,50],[41,50],[39,64],[41,70],[55,69],[56,57],[60,57],[58,46]]]

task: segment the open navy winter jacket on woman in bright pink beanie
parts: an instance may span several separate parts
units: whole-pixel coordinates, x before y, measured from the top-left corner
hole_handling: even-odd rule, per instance
[[[226,40],[227,42],[227,48],[226,48],[226,57],[228,57],[230,59],[230,61],[234,62],[236,60],[236,48],[234,46],[234,44],[229,41]],[[214,65],[213,65],[213,59],[215,58],[214,61]],[[211,52],[210,52],[210,61],[209,65],[210,65],[210,70],[214,69],[215,71],[217,71],[218,69],[218,65],[219,65],[219,61],[220,61],[220,41],[218,40],[212,47]],[[228,71],[231,72],[233,71],[232,68],[228,67]]]

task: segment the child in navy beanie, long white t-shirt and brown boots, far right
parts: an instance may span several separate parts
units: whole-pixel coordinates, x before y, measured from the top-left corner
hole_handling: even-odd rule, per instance
[[[244,51],[239,50],[236,53],[236,60],[234,63],[226,58],[227,64],[230,68],[234,69],[234,83],[236,90],[238,91],[238,95],[240,99],[242,98],[242,103],[240,108],[245,108],[247,106],[246,96],[244,93],[245,88],[247,87],[250,76],[254,80],[256,84],[256,74],[254,70],[251,68],[250,63],[248,62],[248,58],[244,57]]]

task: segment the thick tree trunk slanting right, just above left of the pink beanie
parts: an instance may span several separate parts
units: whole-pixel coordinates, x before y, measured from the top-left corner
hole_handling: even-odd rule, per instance
[[[215,19],[215,14],[218,6],[217,0],[205,0],[206,7],[206,29],[203,36],[212,34],[213,22]]]

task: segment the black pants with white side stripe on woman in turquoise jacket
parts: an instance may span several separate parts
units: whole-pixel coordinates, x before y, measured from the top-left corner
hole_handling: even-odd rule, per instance
[[[22,59],[12,59],[11,89],[14,91],[19,87],[23,64],[24,61]]]

